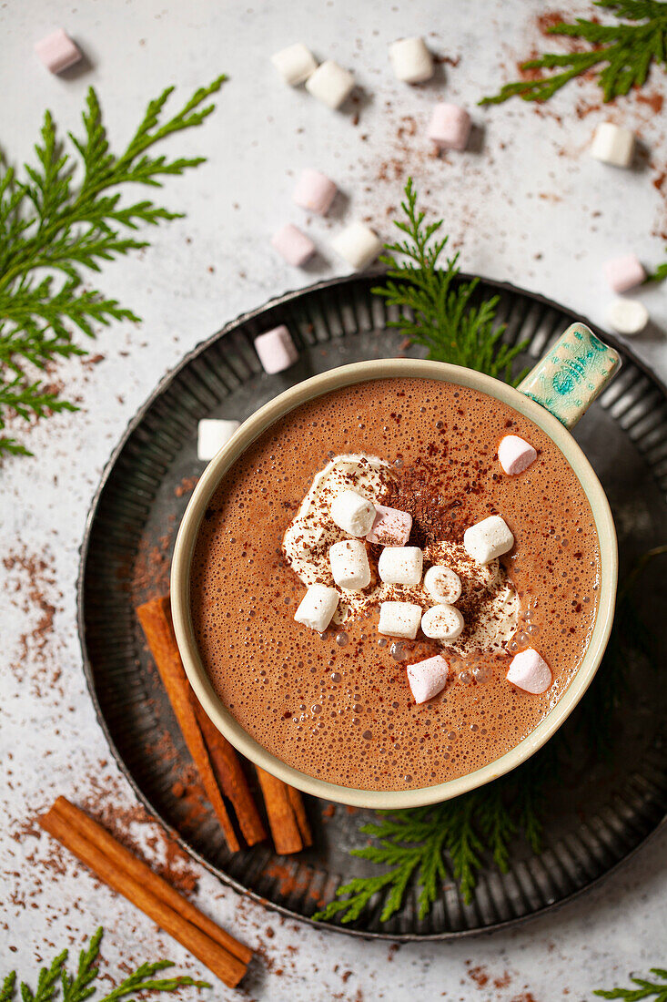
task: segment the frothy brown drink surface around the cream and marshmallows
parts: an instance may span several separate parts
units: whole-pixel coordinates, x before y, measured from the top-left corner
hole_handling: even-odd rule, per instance
[[[507,434],[538,450],[519,476],[505,475],[498,462]],[[519,646],[546,659],[551,688],[532,695],[511,685],[511,654],[478,657],[484,682],[473,679],[472,661],[455,655],[444,690],[417,705],[406,664],[447,656],[421,632],[396,650],[378,632],[377,609],[321,637],[294,622],[305,587],[280,544],[315,473],[343,453],[393,464],[384,500],[413,515],[411,545],[460,543],[470,525],[503,516],[515,536],[502,562],[521,600]],[[376,567],[379,548],[371,551]],[[454,384],[377,380],[298,407],[231,467],[196,543],[192,620],[215,691],[277,758],[347,787],[428,787],[498,759],[555,705],[589,642],[599,571],[586,495],[537,425]]]

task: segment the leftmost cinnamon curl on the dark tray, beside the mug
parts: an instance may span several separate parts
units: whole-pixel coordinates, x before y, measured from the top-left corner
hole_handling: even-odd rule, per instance
[[[190,700],[190,685],[183,668],[171,622],[168,597],[151,598],[139,605],[136,613],[155,658],[157,669],[176,715],[185,743],[201,779],[206,797],[217,816],[227,846],[232,853],[240,849],[229,815],[211,769],[204,739]]]

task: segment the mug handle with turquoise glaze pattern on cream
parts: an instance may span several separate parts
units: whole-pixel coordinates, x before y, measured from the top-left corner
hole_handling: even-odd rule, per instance
[[[572,324],[518,389],[572,428],[616,373],[618,352],[585,324]]]

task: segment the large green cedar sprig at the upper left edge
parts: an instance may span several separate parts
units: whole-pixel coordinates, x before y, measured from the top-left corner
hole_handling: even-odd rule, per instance
[[[171,118],[162,112],[173,87],[148,103],[124,152],[112,153],[97,94],[91,87],[82,115],[83,135],[69,138],[78,153],[65,152],[49,111],[44,115],[36,163],[25,178],[0,163],[0,456],[29,455],[3,430],[10,417],[31,422],[75,406],[61,400],[43,379],[51,363],[85,355],[74,333],[95,337],[96,325],[138,321],[132,310],[96,290],[82,288],[85,270],[148,245],[133,235],[141,225],[175,219],[150,199],[121,204],[117,190],[129,184],[159,187],[202,156],[155,156],[148,150],[173,132],[200,125],[214,104],[219,76],[200,87]],[[81,177],[74,183],[78,169]]]

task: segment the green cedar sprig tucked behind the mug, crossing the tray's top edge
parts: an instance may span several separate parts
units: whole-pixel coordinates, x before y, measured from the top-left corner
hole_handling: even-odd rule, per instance
[[[387,265],[387,280],[373,292],[390,306],[399,307],[401,317],[390,321],[416,344],[429,350],[438,362],[477,369],[507,382],[512,380],[512,364],[525,344],[511,347],[502,341],[505,327],[495,326],[499,297],[475,305],[479,279],[460,282],[459,255],[440,267],[448,236],[440,236],[443,220],[427,223],[417,209],[417,191],[412,177],[405,188],[401,207],[405,220],[396,220],[403,239],[385,244],[381,262]]]

